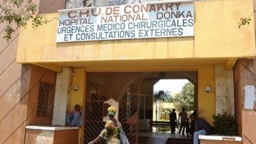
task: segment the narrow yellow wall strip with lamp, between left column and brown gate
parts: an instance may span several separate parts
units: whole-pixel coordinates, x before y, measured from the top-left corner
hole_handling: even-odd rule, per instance
[[[71,101],[69,104],[69,110],[73,110],[76,104],[79,104],[81,107],[84,106],[84,95],[85,95],[85,69],[84,68],[74,68],[72,78],[72,91],[71,91]],[[74,91],[73,88],[75,85],[79,85],[78,91]]]

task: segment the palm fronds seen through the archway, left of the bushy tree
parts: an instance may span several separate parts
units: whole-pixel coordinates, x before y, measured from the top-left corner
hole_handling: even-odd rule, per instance
[[[173,98],[171,96],[171,92],[169,91],[155,91],[153,94],[153,100],[154,101],[163,101],[167,103],[172,103]]]

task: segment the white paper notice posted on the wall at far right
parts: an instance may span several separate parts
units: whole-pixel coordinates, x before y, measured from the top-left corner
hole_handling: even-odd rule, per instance
[[[254,108],[254,91],[254,85],[245,85],[245,109],[252,110]]]

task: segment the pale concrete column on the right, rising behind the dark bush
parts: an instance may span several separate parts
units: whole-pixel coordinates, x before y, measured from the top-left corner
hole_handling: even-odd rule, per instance
[[[225,70],[224,65],[215,66],[216,114],[226,111],[235,114],[233,94],[233,71]]]

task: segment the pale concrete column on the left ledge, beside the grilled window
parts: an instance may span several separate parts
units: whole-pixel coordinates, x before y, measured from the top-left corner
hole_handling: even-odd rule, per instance
[[[57,73],[52,119],[53,125],[65,126],[66,108],[68,101],[70,101],[69,85],[71,76],[71,68],[63,68],[61,73]]]

